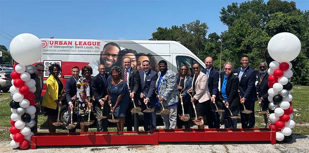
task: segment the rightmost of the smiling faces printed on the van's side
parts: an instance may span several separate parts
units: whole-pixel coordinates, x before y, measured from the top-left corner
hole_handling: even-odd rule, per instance
[[[155,72],[159,72],[159,65],[158,65],[158,61],[157,59],[155,58],[154,55],[148,53],[148,54],[145,54],[145,53],[138,53],[137,55],[137,66],[136,66],[136,69],[137,70],[142,70],[143,67],[142,67],[142,62],[144,60],[148,60],[150,61],[150,68],[152,70],[154,70]]]

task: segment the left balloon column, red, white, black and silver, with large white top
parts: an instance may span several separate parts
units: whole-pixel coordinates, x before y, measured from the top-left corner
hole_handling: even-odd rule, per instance
[[[36,82],[30,74],[35,73],[32,65],[37,62],[43,53],[43,46],[39,38],[33,34],[19,34],[12,39],[10,53],[17,62],[13,65],[11,73],[11,147],[27,149],[31,136],[34,135],[30,128],[35,127],[34,121],[36,108],[34,107],[34,92]],[[35,75],[32,75],[35,76]]]

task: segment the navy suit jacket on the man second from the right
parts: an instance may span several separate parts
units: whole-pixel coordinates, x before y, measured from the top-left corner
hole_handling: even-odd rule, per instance
[[[237,69],[239,76],[240,67]],[[238,78],[238,77],[237,77]],[[250,66],[243,72],[239,82],[239,91],[242,98],[246,101],[256,101],[256,72]]]

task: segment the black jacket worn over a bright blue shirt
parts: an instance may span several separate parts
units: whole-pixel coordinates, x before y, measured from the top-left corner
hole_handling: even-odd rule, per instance
[[[222,87],[224,75],[225,75],[225,72],[221,72],[220,74],[221,86],[220,87]],[[239,95],[238,95],[238,86],[239,86],[239,79],[233,73],[231,73],[230,76],[227,78],[226,87],[225,87],[227,101],[229,102],[230,106],[237,106],[240,102]]]

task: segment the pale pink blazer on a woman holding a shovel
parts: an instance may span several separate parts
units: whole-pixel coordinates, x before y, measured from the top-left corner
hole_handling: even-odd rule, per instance
[[[193,80],[195,78],[195,74],[193,76]],[[201,72],[198,74],[195,84],[192,82],[192,87],[195,86],[195,95],[194,99],[197,99],[199,103],[205,102],[210,99],[210,93],[207,86],[207,76],[205,73]]]

